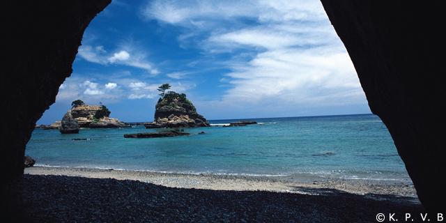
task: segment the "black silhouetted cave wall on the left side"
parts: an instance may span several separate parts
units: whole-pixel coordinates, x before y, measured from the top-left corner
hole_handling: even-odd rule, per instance
[[[1,183],[22,176],[36,121],[56,100],[91,20],[111,0],[1,1]]]

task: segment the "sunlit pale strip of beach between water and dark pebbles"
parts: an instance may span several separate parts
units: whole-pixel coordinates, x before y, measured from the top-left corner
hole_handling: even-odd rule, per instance
[[[388,194],[404,196],[419,203],[412,182],[403,180],[368,180],[322,178],[317,176],[247,176],[236,174],[178,174],[169,172],[84,168],[84,167],[29,167],[24,174],[79,176],[86,178],[114,178],[138,180],[165,187],[205,190],[235,190],[288,192],[312,194],[312,190],[335,189],[351,194]],[[299,188],[299,189],[296,189]]]

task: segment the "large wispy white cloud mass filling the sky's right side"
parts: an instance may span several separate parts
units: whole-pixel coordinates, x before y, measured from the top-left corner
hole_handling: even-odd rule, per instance
[[[367,103],[320,1],[155,0],[142,14],[182,27],[180,45],[194,43],[208,56],[231,54],[223,62],[232,72],[220,78],[229,84],[221,105]]]

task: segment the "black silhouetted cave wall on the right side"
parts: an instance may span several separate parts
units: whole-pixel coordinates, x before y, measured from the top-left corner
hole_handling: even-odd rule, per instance
[[[420,201],[444,211],[446,2],[321,1]]]

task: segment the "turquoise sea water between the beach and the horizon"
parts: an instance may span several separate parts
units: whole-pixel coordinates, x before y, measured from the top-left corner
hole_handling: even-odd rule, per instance
[[[79,134],[36,129],[26,155],[38,166],[132,169],[187,174],[246,174],[409,180],[387,128],[373,114],[252,118],[259,124],[185,129],[190,136],[127,139],[156,132],[82,129]],[[206,134],[199,134],[206,132]],[[72,139],[90,140],[72,140]]]

